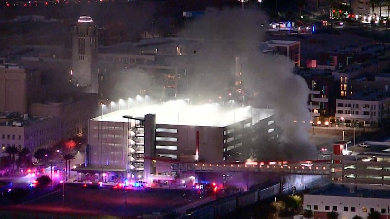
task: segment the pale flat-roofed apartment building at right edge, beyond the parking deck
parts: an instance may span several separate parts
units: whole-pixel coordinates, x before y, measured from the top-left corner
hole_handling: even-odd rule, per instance
[[[362,91],[336,99],[336,124],[350,127],[378,127],[390,115],[389,91]]]

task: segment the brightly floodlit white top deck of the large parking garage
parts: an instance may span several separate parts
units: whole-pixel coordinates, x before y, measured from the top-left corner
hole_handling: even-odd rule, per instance
[[[110,111],[110,106],[103,105],[103,111]],[[218,104],[188,105],[185,101],[169,101],[164,104],[117,110],[91,120],[128,122],[123,116],[143,118],[146,114],[156,114],[156,124],[225,127],[251,117],[253,123],[258,122],[272,116],[273,109],[258,109],[251,106],[231,108]]]

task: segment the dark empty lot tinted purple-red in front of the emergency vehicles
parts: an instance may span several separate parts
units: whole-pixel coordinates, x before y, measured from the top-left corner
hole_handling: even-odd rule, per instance
[[[111,188],[76,187],[72,184],[65,187],[65,199],[62,202],[62,191],[60,188],[36,200],[9,206],[6,209],[23,212],[57,212],[70,215],[135,217],[152,212],[163,212],[167,209],[172,210],[202,200],[196,194],[183,190],[147,189],[127,190],[125,192],[124,190],[112,190]]]

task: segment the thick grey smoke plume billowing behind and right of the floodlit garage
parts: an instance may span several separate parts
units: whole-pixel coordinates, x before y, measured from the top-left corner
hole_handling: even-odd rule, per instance
[[[267,24],[266,20],[259,11],[247,9],[244,12],[208,10],[194,20],[179,34],[204,40],[193,61],[194,75],[191,76],[196,80],[189,80],[195,81],[189,90],[193,96],[233,98],[227,93],[236,91],[235,58],[239,57],[245,95],[252,98],[255,107],[273,108],[276,123],[282,129],[281,142],[255,147],[263,155],[265,151],[272,154],[273,159],[313,158],[315,148],[309,144],[307,132],[310,128],[308,86],[302,77],[292,73],[291,60],[260,50],[260,42],[265,39],[261,24]],[[241,97],[242,94],[235,95]]]

